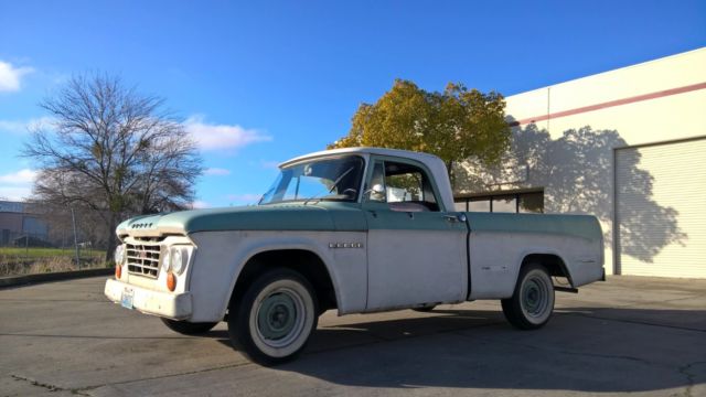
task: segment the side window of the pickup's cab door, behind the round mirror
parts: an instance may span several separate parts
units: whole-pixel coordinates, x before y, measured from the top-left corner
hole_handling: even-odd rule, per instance
[[[431,180],[419,167],[392,161],[377,162],[371,186],[368,201],[386,202],[392,211],[439,211]]]

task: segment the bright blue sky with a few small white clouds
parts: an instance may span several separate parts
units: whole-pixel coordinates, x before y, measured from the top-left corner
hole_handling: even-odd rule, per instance
[[[201,206],[253,203],[275,164],[344,136],[395,78],[505,96],[706,45],[706,1],[0,0],[0,197],[36,104],[118,74],[197,133]]]

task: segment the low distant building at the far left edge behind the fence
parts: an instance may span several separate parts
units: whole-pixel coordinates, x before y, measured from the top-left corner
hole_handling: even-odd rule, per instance
[[[28,211],[22,202],[0,201],[0,246],[14,245],[17,240],[29,238],[49,240],[49,225]]]

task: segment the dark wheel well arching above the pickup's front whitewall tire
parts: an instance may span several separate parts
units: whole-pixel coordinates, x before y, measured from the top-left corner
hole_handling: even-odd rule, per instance
[[[312,251],[304,249],[279,249],[259,253],[252,257],[240,270],[235,282],[231,302],[239,300],[259,275],[276,267],[288,268],[301,273],[313,287],[321,312],[336,309],[335,290],[325,265]]]

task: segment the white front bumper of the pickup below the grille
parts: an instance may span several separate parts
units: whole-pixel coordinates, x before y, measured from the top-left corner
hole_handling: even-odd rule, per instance
[[[132,286],[115,279],[106,281],[105,294],[115,303],[122,301],[122,294],[132,291],[132,308],[147,314],[173,320],[186,320],[192,314],[191,293],[168,293]]]

